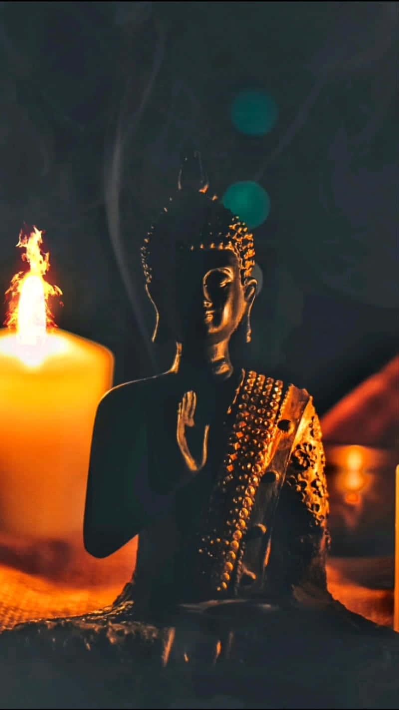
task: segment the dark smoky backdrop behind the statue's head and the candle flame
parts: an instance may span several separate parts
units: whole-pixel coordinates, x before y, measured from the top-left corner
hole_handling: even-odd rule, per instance
[[[169,366],[139,249],[195,141],[218,195],[258,180],[271,197],[248,364],[325,412],[398,347],[397,18],[395,2],[0,3],[0,290],[36,224],[60,326],[114,351],[116,383]],[[279,105],[264,138],[230,121],[253,86]]]

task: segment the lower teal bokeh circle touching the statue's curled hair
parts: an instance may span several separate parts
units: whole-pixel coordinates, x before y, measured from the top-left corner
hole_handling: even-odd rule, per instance
[[[259,182],[234,182],[223,195],[223,204],[240,217],[251,229],[267,219],[270,197]]]

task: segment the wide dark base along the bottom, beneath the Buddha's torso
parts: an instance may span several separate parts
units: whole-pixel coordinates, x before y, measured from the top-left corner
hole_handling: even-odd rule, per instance
[[[333,601],[208,602],[147,623],[128,602],[0,644],[9,708],[397,707],[399,636]]]

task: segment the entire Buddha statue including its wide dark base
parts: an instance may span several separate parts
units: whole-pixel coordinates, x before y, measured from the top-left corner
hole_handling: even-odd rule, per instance
[[[107,608],[1,634],[21,663],[18,706],[396,707],[381,678],[397,683],[395,634],[327,591],[313,400],[241,361],[254,239],[208,197],[195,157],[142,249],[174,364],[113,388],[94,425],[84,543],[106,557],[138,534],[133,577]]]

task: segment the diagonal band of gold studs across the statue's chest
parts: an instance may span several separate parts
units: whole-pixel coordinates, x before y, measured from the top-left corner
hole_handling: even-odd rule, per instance
[[[229,408],[235,418],[230,425],[225,460],[213,488],[208,520],[203,521],[206,530],[214,530],[212,540],[208,537],[206,545],[199,545],[208,555],[198,555],[201,573],[210,579],[213,592],[225,594],[234,582],[257,490],[271,460],[271,444],[277,422],[282,420],[284,401],[281,381],[243,371]]]

